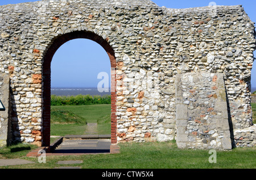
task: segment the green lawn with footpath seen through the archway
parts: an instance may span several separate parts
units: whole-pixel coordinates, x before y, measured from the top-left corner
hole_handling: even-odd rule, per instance
[[[110,104],[51,106],[51,135],[84,135],[86,123],[98,123],[99,134],[110,134],[110,110]]]

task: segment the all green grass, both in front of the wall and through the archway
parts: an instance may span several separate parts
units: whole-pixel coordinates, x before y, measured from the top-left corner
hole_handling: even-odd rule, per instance
[[[256,104],[252,104],[253,112],[256,112]],[[105,126],[102,131],[110,131],[110,105],[89,106],[61,106],[52,107],[52,112],[63,116],[52,122],[53,135],[83,133],[86,122],[98,122]],[[71,122],[61,122],[63,118],[72,119]],[[75,118],[74,118],[75,117]],[[254,115],[255,122],[255,115]],[[108,127],[109,126],[109,127]],[[106,128],[107,127],[107,128]],[[72,129],[75,129],[72,130]],[[31,149],[36,146],[18,144],[0,149],[0,158],[22,158],[34,161],[35,164],[22,166],[3,166],[0,168],[56,168],[61,166],[57,161],[82,160],[82,164],[69,166],[81,166],[84,169],[255,169],[256,147],[235,148],[229,151],[218,151],[217,163],[209,163],[209,150],[178,149],[175,141],[164,143],[119,143],[118,154],[97,154],[82,156],[47,156],[46,164],[40,164],[38,158],[26,157]]]

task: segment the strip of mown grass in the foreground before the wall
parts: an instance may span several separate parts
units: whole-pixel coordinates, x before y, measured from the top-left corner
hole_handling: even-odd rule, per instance
[[[229,151],[217,150],[217,163],[210,164],[209,150],[178,149],[175,142],[119,143],[119,146],[121,149],[118,154],[47,156],[46,164],[39,164],[38,158],[22,157],[36,163],[8,168],[55,168],[61,166],[56,164],[57,161],[64,160],[82,160],[82,164],[69,166],[81,166],[84,169],[254,169],[256,167],[255,147]]]

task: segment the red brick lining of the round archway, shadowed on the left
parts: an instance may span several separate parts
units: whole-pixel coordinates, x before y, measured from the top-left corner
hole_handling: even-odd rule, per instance
[[[114,55],[113,48],[109,45],[107,40],[104,40],[101,36],[94,34],[93,32],[88,31],[75,31],[69,32],[64,35],[60,35],[55,37],[52,40],[52,43],[47,48],[46,52],[43,55],[43,72],[42,72],[42,145],[49,146],[50,142],[50,126],[51,126],[51,61],[52,57],[59,49],[61,45],[66,43],[69,40],[73,39],[89,39],[93,40],[96,43],[100,44],[108,53],[110,59],[110,65],[112,68],[111,73],[111,142],[112,144],[117,143],[116,137],[116,127],[117,127],[117,116],[115,115],[117,112],[117,93],[115,89],[115,68],[116,68],[116,60]]]

